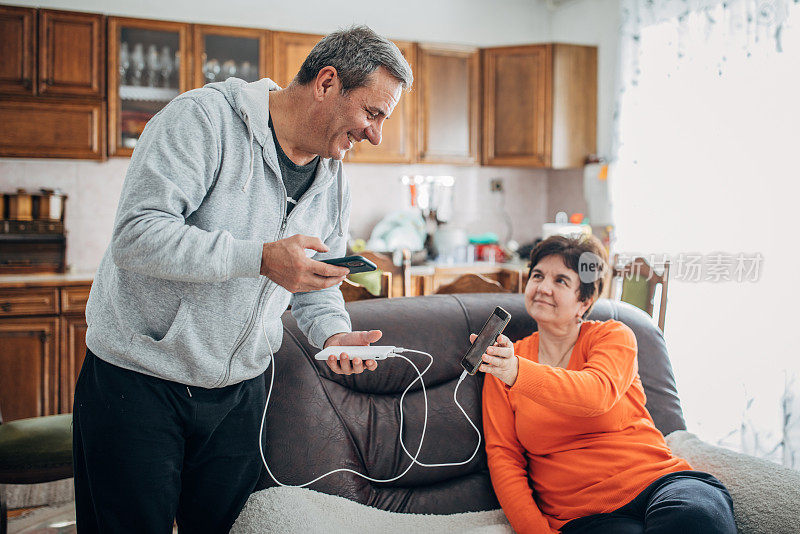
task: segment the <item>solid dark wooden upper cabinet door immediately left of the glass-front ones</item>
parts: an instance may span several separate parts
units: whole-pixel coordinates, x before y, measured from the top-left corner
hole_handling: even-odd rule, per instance
[[[102,98],[105,93],[105,17],[39,11],[39,94]]]

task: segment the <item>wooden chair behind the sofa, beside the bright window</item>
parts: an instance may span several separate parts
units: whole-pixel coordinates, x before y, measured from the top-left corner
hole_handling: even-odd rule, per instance
[[[610,295],[614,300],[633,304],[647,312],[650,317],[655,309],[655,296],[661,287],[658,306],[658,327],[664,331],[667,316],[667,288],[669,287],[669,261],[659,274],[642,257],[636,257],[627,265],[619,265],[619,254],[614,255],[614,266],[610,284]]]

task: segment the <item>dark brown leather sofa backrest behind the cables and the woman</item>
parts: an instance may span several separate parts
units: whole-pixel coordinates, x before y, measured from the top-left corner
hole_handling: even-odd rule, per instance
[[[495,306],[508,310],[512,319],[506,335],[512,340],[535,331],[519,294],[432,295],[374,299],[348,304],[354,330],[380,329],[379,344],[429,352],[434,363],[425,375],[428,390],[428,426],[419,456],[424,463],[466,460],[478,436],[453,402],[453,390],[469,347],[470,332],[477,333]],[[600,301],[591,319],[618,319],[630,326],[639,344],[639,372],[648,397],[647,407],[665,435],[684,429],[660,331],[644,312],[624,303]],[[375,372],[342,376],[315,361],[317,349],[287,312],[284,337],[275,354],[275,383],[264,430],[264,454],[272,473],[284,484],[298,485],[328,471],[349,468],[372,478],[401,473],[410,459],[397,439],[400,429],[400,395],[416,378],[401,358],[384,360]],[[420,370],[429,359],[407,354]],[[266,373],[269,384],[270,370]],[[458,400],[481,429],[483,376],[467,377]],[[419,383],[404,401],[406,448],[416,451],[424,422],[424,400]],[[259,489],[276,485],[266,473]],[[483,443],[475,458],[458,467],[413,466],[399,480],[372,483],[348,472],[330,475],[310,486],[323,493],[384,510],[405,513],[449,514],[490,510],[499,505],[486,466]]]

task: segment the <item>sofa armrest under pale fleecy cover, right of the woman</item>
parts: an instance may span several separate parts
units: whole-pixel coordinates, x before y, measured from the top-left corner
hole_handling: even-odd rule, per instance
[[[675,456],[717,477],[733,498],[743,534],[800,532],[800,472],[703,442],[685,430],[667,436]]]

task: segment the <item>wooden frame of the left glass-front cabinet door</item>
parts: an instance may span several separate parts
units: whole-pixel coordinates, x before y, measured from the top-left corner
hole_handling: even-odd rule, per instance
[[[178,34],[180,52],[180,87],[183,93],[191,86],[192,50],[191,50],[191,25],[185,22],[171,22],[165,20],[135,19],[129,17],[108,17],[108,155],[114,157],[130,157],[133,149],[117,146],[119,142],[119,39],[120,30],[123,28],[139,28],[144,30],[168,31]]]

